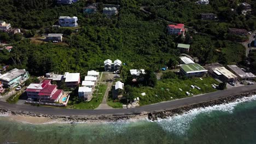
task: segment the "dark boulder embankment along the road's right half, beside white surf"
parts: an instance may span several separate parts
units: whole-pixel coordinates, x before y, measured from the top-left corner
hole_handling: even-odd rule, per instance
[[[148,119],[152,120],[152,121],[157,121],[159,118],[164,119],[164,118],[172,117],[175,115],[181,115],[182,113],[188,112],[193,109],[199,109],[199,108],[208,107],[208,106],[232,103],[232,102],[236,101],[237,99],[241,99],[244,97],[251,97],[252,95],[255,95],[255,94],[256,94],[256,92],[242,93],[242,94],[231,95],[229,97],[224,97],[224,98],[220,98],[220,99],[216,99],[216,100],[205,101],[205,102],[198,103],[198,104],[183,106],[183,107],[179,107],[177,109],[166,110],[166,111],[161,111],[161,112],[152,112],[152,113],[148,113]]]

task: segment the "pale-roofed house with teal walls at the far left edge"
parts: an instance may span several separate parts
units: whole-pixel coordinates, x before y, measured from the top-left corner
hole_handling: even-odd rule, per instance
[[[14,88],[29,78],[28,71],[25,69],[12,69],[0,76],[0,81],[4,87]]]

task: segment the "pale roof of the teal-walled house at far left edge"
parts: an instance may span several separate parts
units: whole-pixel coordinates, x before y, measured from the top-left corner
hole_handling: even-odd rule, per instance
[[[20,75],[24,75],[27,71],[25,69],[12,69],[8,71],[7,73],[0,76],[0,80],[4,81],[11,81],[13,79],[16,79]]]

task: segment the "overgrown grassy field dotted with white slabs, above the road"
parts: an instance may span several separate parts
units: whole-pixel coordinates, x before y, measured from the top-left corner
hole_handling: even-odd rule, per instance
[[[185,97],[191,97],[186,95],[185,92],[193,93],[194,95],[209,93],[217,91],[212,88],[211,84],[216,83],[219,84],[212,77],[202,77],[202,80],[199,78],[191,78],[188,80],[181,79],[164,79],[158,81],[157,86],[152,87],[135,87],[133,88],[132,94],[135,97],[139,97],[140,105],[148,105],[158,103],[160,101],[167,101],[173,99],[181,99]],[[201,88],[198,90],[196,88],[191,88],[191,85],[196,85]],[[182,89],[182,91],[179,90]],[[141,93],[146,93],[146,95],[142,96]]]

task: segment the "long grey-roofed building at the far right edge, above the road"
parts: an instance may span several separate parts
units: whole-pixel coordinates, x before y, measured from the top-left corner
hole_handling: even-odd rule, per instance
[[[234,73],[240,80],[253,80],[256,76],[252,73],[245,73],[242,69],[238,68],[236,65],[228,65],[228,69]]]

